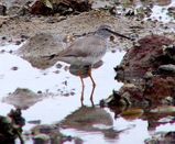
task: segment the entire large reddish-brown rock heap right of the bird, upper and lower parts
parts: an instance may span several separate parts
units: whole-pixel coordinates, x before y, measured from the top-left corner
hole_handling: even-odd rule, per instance
[[[108,106],[149,107],[175,104],[175,46],[165,36],[149,35],[123,57],[114,69],[117,80],[124,82]],[[116,95],[117,93],[117,95]]]

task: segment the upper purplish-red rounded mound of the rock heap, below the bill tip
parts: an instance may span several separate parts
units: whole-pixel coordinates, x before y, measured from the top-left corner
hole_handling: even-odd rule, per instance
[[[164,54],[164,45],[173,44],[173,41],[161,35],[149,35],[139,40],[139,46],[133,46],[124,55],[117,70],[117,79],[132,80],[143,78],[146,71],[156,70],[160,65],[171,63],[171,57]]]

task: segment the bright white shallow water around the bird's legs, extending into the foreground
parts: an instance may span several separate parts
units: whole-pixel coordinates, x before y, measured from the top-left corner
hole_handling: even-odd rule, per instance
[[[26,60],[9,53],[9,51],[18,49],[18,46],[1,46],[0,49],[6,49],[6,52],[0,54],[1,99],[4,99],[9,92],[15,91],[17,88],[28,88],[34,92],[42,91],[42,93],[46,93],[41,101],[22,111],[22,115],[26,120],[26,124],[23,128],[24,132],[30,131],[35,125],[28,123],[29,121],[40,120],[41,124],[53,124],[63,121],[63,125],[66,125],[66,128],[63,126],[61,129],[63,134],[78,136],[87,144],[142,144],[144,140],[151,136],[152,132],[147,130],[149,123],[146,120],[114,118],[114,113],[107,108],[101,109],[97,107],[92,109],[89,100],[92,88],[89,78],[84,79],[84,104],[86,107],[81,107],[80,79],[69,74],[65,68],[68,65],[61,63],[63,65],[62,68],[56,68],[56,65],[54,65],[51,68],[41,70],[32,67]],[[118,90],[122,86],[122,84],[114,80],[113,67],[120,64],[124,52],[108,52],[102,58],[103,65],[92,70],[92,77],[97,84],[94,93],[95,104],[98,104],[101,99],[111,95],[113,89]],[[55,73],[56,70],[59,70],[59,73]],[[0,114],[6,115],[12,108],[13,106],[1,102]],[[76,117],[94,114],[97,114],[97,118],[92,119],[92,122],[86,123],[86,125],[72,125],[72,123],[67,123],[67,119],[69,121],[75,119],[76,121]],[[100,119],[102,120],[100,121]],[[174,131],[175,124],[160,125],[155,131],[168,131],[169,128]],[[28,140],[26,143],[31,144],[32,140]]]

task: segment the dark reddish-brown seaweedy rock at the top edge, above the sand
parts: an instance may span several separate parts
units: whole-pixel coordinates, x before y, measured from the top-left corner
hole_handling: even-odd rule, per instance
[[[47,2],[35,1],[31,7],[32,14],[54,14],[61,15],[74,14],[77,12],[85,12],[91,10],[91,3],[89,0],[47,0]]]

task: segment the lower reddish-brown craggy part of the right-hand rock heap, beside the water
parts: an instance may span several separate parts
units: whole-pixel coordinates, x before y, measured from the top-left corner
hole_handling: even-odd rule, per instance
[[[154,76],[147,81],[139,84],[125,84],[119,91],[113,92],[107,100],[103,100],[106,106],[122,106],[122,107],[141,107],[146,108],[157,104],[175,103],[175,78],[171,76]],[[116,95],[117,93],[117,95]]]

